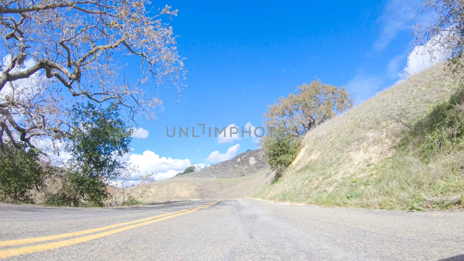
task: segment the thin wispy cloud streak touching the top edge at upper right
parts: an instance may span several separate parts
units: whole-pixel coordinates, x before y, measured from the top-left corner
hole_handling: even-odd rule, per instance
[[[398,34],[411,31],[415,24],[422,24],[426,18],[418,16],[420,0],[388,0],[382,16],[379,38],[374,42],[374,50],[383,51]]]

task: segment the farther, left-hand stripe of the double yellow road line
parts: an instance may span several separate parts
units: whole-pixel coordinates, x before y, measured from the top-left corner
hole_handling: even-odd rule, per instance
[[[206,206],[206,205],[207,204],[205,204],[203,206]],[[147,220],[151,220],[151,219],[155,219],[155,218],[160,218],[160,217],[167,216],[167,215],[173,215],[173,214],[176,214],[176,213],[180,213],[180,212],[183,212],[183,211],[188,211],[188,210],[195,209],[195,208],[182,209],[182,210],[175,211],[175,212],[170,212],[170,213],[166,213],[166,214],[162,214],[162,215],[155,215],[155,216],[142,218],[142,219],[129,221],[129,222],[122,222],[122,223],[109,225],[109,226],[105,226],[105,227],[101,227],[101,228],[91,228],[91,229],[86,229],[86,230],[81,230],[81,231],[76,231],[76,232],[71,232],[71,233],[58,234],[58,235],[48,235],[48,236],[40,236],[40,237],[33,237],[33,238],[0,241],[0,247],[25,245],[25,244],[31,244],[31,243],[37,243],[37,242],[43,242],[43,241],[51,241],[51,240],[56,240],[56,239],[60,239],[60,238],[65,238],[65,237],[71,237],[71,236],[77,236],[77,235],[85,235],[85,234],[90,234],[90,233],[94,233],[94,232],[98,232],[98,231],[102,231],[102,230],[106,230],[106,229],[110,229],[110,228],[116,228],[116,227],[130,225],[130,224],[134,224],[134,223],[138,223],[138,222],[142,222],[142,221],[147,221]]]

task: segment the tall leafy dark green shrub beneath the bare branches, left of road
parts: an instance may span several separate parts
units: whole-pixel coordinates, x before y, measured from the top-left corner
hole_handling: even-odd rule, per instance
[[[119,115],[117,104],[106,109],[95,104],[73,106],[74,128],[70,134],[71,174],[66,178],[64,199],[86,206],[102,206],[110,196],[107,183],[125,168],[120,160],[129,152],[131,129]]]

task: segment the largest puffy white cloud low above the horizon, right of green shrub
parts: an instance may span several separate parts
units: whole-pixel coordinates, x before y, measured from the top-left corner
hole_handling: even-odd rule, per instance
[[[145,172],[153,173],[156,181],[173,177],[191,165],[189,159],[160,157],[151,150],[145,150],[142,154],[132,153],[127,162],[138,167],[140,171],[139,176],[142,176]],[[139,176],[133,176],[131,178],[136,179]]]

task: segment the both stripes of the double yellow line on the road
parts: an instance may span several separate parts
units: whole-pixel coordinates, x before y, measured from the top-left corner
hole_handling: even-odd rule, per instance
[[[134,221],[129,221],[129,222],[123,222],[119,224],[114,224],[110,226],[105,226],[101,228],[92,228],[92,229],[87,229],[87,230],[81,230],[81,231],[76,231],[76,232],[71,232],[71,233],[64,233],[64,234],[59,234],[59,235],[49,235],[49,236],[41,236],[41,237],[34,237],[34,238],[25,238],[25,239],[16,239],[16,240],[8,240],[8,241],[0,241],[0,247],[6,247],[6,246],[17,246],[17,245],[24,245],[24,244],[31,244],[31,243],[37,243],[37,242],[43,242],[43,241],[52,241],[52,240],[57,240],[61,238],[66,238],[66,237],[72,237],[72,236],[78,236],[78,235],[86,235],[102,230],[107,230],[110,228],[116,228],[113,230],[108,230],[104,232],[100,232],[97,234],[92,234],[92,235],[86,235],[86,236],[81,236],[77,238],[72,238],[68,240],[63,240],[63,241],[57,241],[57,242],[52,242],[52,243],[45,243],[45,244],[40,244],[40,245],[34,245],[34,246],[29,246],[29,247],[22,247],[22,248],[11,248],[11,249],[6,249],[6,250],[0,250],[0,258],[6,258],[10,256],[15,256],[15,255],[20,255],[20,254],[30,254],[30,253],[35,253],[39,251],[45,251],[53,248],[61,248],[65,246],[71,246],[74,244],[82,243],[85,241],[90,241],[94,240],[103,236],[107,235],[112,235],[116,234],[125,230],[129,230],[131,228],[137,228],[141,226],[145,226],[148,224],[152,224],[155,222],[160,222],[163,220],[167,220],[169,218],[173,218],[179,215],[184,215],[187,213],[191,213],[195,210],[206,208],[210,205],[213,205],[214,203],[217,203],[218,201],[214,201],[205,205],[202,205],[200,207],[195,207],[195,208],[190,208],[190,209],[183,209],[171,213],[166,213],[162,215],[155,215],[152,217],[147,217],[147,218],[142,218],[139,220],[134,220]],[[133,225],[131,225],[133,224]],[[129,226],[126,226],[129,225]],[[122,227],[126,226],[126,227]],[[122,227],[122,228],[117,228],[117,227]]]

